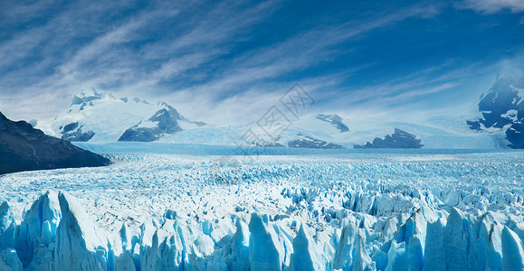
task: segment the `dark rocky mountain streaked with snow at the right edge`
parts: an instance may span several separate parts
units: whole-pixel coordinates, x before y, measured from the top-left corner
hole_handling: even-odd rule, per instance
[[[468,121],[472,130],[504,133],[511,148],[524,148],[524,76],[503,75],[481,97],[482,117]]]

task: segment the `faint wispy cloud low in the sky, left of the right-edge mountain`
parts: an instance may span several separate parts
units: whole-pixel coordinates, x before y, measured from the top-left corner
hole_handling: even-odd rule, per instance
[[[445,108],[459,107],[457,106],[458,101],[435,100],[435,97],[429,99],[426,97],[442,92],[468,91],[472,93],[472,97],[476,98],[489,89],[490,85],[485,88],[472,89],[472,86],[467,85],[466,82],[500,69],[500,63],[486,64],[482,61],[459,69],[444,69],[452,62],[443,61],[441,65],[365,88],[346,89],[350,95],[333,99],[321,109],[344,108],[340,110],[342,116],[402,116],[401,118],[416,117],[421,114],[419,112],[421,107],[429,110],[438,104],[440,104],[441,111],[445,111]],[[434,70],[443,70],[443,73],[435,76]],[[341,92],[340,89],[326,95],[334,96],[339,92]],[[470,107],[474,101],[474,99],[462,101],[462,107]],[[448,114],[456,112],[457,110],[453,109],[453,112]]]

